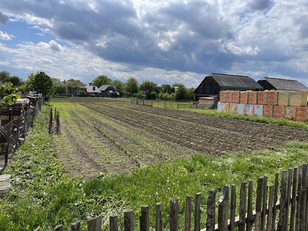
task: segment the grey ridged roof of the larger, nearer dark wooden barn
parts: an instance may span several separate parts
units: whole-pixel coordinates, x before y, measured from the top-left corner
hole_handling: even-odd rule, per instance
[[[248,76],[212,73],[206,77],[209,76],[212,76],[221,87],[263,89],[263,87],[259,83],[257,83],[254,79]]]

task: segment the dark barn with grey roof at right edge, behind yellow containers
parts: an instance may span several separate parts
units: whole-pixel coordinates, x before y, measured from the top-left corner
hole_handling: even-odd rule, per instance
[[[258,80],[258,83],[264,88],[264,90],[280,90],[280,91],[308,91],[308,88],[298,82],[291,79],[276,79],[265,77]]]

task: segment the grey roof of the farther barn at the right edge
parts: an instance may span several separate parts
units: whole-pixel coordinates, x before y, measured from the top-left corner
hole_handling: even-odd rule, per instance
[[[285,91],[308,91],[308,87],[306,87],[301,82],[297,80],[291,79],[276,79],[276,78],[268,78],[265,77],[263,79],[258,80],[266,80],[270,84],[273,85],[277,90],[285,90]]]

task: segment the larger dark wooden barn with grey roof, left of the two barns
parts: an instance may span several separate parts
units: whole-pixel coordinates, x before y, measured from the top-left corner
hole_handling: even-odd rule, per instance
[[[220,91],[261,91],[263,87],[254,79],[242,75],[227,75],[212,73],[205,76],[194,91],[195,100],[200,97],[217,96]]]

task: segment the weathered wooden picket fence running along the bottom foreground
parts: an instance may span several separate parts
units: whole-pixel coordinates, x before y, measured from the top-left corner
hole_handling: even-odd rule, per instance
[[[194,231],[307,231],[308,230],[308,195],[307,188],[307,164],[289,168],[282,171],[280,184],[280,199],[278,200],[278,172],[275,175],[274,185],[268,187],[268,177],[257,179],[256,205],[253,210],[253,180],[241,182],[239,201],[237,203],[235,184],[231,185],[230,197],[229,186],[225,185],[222,196],[218,201],[218,213],[216,217],[216,191],[210,190],[207,199],[206,227],[200,227],[200,196],[195,197],[194,208]],[[269,189],[269,193],[268,193]],[[269,194],[269,197],[267,196]],[[248,199],[247,199],[248,198]],[[230,203],[230,206],[229,206]],[[239,216],[235,217],[236,207],[239,205]],[[246,209],[247,208],[247,209]],[[162,231],[161,202],[156,203],[155,231]],[[279,210],[279,212],[278,212]],[[192,197],[186,197],[184,231],[191,231]],[[133,231],[134,212],[128,209],[124,212],[124,231]],[[179,229],[179,205],[178,199],[173,199],[169,204],[169,230]],[[218,224],[215,224],[215,221]],[[109,217],[110,231],[118,231],[118,216]],[[100,231],[102,217],[94,217],[87,220],[88,231]],[[62,225],[55,227],[55,231],[62,231]],[[71,224],[72,231],[80,231],[80,223]],[[35,229],[34,231],[39,231]],[[149,206],[141,207],[140,231],[149,231]]]

